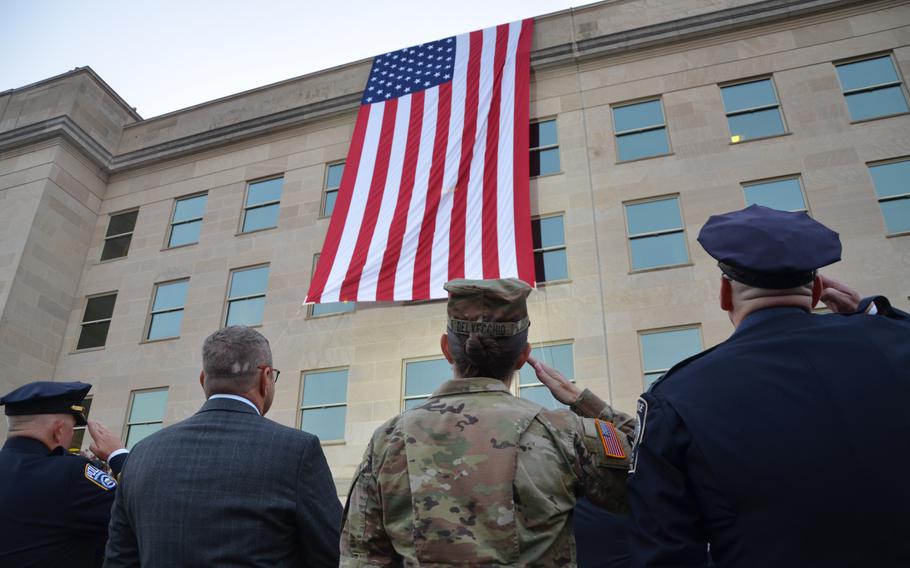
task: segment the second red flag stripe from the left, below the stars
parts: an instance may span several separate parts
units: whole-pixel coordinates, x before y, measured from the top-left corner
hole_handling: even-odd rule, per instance
[[[363,221],[360,223],[360,232],[357,233],[357,244],[341,284],[341,294],[338,299],[352,302],[357,300],[357,290],[360,287],[360,276],[363,265],[367,261],[370,242],[373,240],[373,231],[376,228],[376,219],[379,217],[379,208],[382,205],[382,194],[385,193],[385,179],[389,173],[389,156],[392,153],[392,137],[395,134],[395,115],[398,111],[398,99],[386,101],[382,115],[382,129],[379,131],[379,146],[376,148],[376,165],[373,170],[373,180],[370,184],[370,193],[367,195],[367,204],[363,211]]]

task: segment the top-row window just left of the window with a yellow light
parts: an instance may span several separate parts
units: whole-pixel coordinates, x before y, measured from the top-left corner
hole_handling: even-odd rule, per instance
[[[613,129],[620,162],[670,153],[660,99],[613,107]]]

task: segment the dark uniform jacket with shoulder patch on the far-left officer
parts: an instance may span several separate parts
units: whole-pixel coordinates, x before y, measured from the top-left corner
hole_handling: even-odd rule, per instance
[[[113,460],[115,472],[125,458]],[[100,566],[116,486],[63,448],[7,440],[0,450],[0,566]]]

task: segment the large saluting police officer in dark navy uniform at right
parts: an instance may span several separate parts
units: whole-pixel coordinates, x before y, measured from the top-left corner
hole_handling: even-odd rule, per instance
[[[805,213],[753,205],[698,240],[736,330],[639,400],[633,565],[910,566],[910,317],[818,276],[840,240]]]

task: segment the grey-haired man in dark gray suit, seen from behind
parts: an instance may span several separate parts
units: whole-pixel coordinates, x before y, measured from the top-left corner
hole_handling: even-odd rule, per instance
[[[266,338],[226,327],[202,363],[208,401],[130,454],[104,566],[338,566],[341,504],[319,439],[262,417],[278,380]]]

